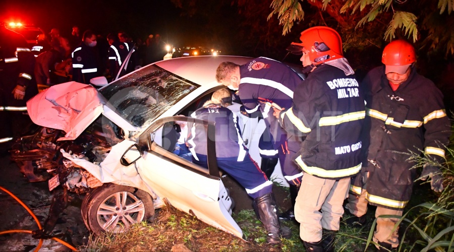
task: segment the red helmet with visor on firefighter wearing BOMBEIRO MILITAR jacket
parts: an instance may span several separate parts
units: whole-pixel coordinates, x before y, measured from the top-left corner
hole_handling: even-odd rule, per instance
[[[305,47],[309,53],[309,58],[314,65],[322,64],[326,61],[343,58],[342,39],[334,30],[326,26],[315,26],[301,33],[302,43],[292,43],[288,50],[295,52],[295,46],[300,46],[300,50]]]

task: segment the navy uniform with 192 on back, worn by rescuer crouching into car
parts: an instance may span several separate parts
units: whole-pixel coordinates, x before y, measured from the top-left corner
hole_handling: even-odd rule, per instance
[[[266,178],[243,145],[237,115],[228,108],[210,104],[199,108],[191,116],[215,122],[216,160],[219,168],[235,178],[254,199],[271,193],[272,182]],[[193,162],[207,167],[204,125],[188,123],[187,139]]]

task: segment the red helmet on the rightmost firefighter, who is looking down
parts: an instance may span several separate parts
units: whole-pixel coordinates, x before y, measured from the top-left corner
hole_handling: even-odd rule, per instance
[[[394,40],[387,44],[381,56],[381,62],[386,66],[407,66],[415,61],[415,48],[405,40]]]

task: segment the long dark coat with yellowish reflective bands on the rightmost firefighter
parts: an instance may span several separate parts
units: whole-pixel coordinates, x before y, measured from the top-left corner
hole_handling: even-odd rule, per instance
[[[450,135],[443,96],[432,81],[412,68],[406,82],[392,91],[384,66],[371,70],[362,83],[366,99],[363,171],[369,171],[366,199],[371,205],[402,210],[412,194],[415,163],[405,153],[424,151],[444,160]],[[375,164],[375,165],[374,165]],[[351,191],[361,194],[362,176]]]

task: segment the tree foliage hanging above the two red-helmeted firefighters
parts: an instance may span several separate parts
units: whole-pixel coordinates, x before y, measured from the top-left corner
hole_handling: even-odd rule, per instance
[[[443,50],[454,54],[454,0],[272,0],[270,20],[275,14],[282,25],[282,35],[291,31],[294,24],[304,20],[307,3],[336,21],[343,31],[345,47],[361,45],[361,41],[381,46],[385,41],[407,37],[417,47]],[[321,19],[323,16],[320,14]],[[448,29],[446,29],[448,27]],[[383,31],[384,30],[384,31]],[[377,32],[382,35],[377,36]],[[348,34],[355,34],[353,36]]]

